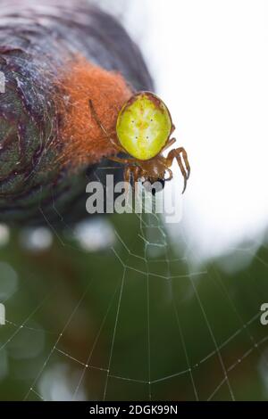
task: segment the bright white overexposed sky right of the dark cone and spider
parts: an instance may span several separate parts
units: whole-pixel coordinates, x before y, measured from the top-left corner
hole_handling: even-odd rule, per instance
[[[261,241],[268,224],[268,2],[133,0],[126,26],[188,151],[182,222],[189,242],[206,258],[248,238]]]

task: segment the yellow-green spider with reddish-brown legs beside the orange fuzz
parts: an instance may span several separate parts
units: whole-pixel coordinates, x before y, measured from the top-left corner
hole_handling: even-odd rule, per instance
[[[98,126],[105,136],[108,133],[96,115],[93,103],[89,100],[89,107],[96,119]],[[143,182],[151,184],[159,181],[164,185],[165,181],[172,179],[172,162],[177,160],[182,176],[184,177],[184,193],[190,173],[187,152],[183,147],[173,148],[167,155],[163,152],[176,142],[171,138],[175,127],[172,117],[163,101],[155,94],[141,91],[133,94],[119,112],[116,123],[116,140],[110,138],[117,152],[127,154],[130,157],[108,157],[122,163],[124,168],[124,181],[130,183],[131,177],[134,182],[143,178]],[[184,165],[182,164],[181,157]],[[168,172],[169,177],[165,178]]]

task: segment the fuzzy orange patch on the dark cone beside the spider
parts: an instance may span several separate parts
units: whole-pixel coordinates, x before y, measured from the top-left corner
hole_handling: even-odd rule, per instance
[[[54,103],[59,115],[58,136],[63,164],[78,168],[116,154],[110,138],[116,138],[118,112],[132,94],[121,74],[77,57],[67,63],[56,85]],[[105,136],[97,124],[90,111],[89,99],[110,137]]]

